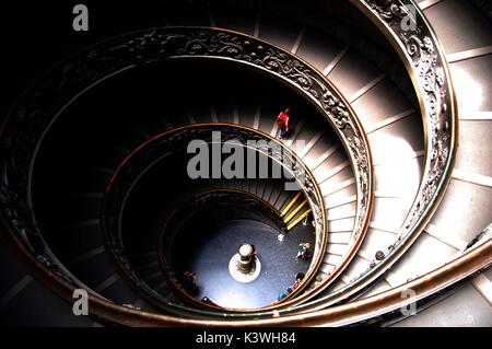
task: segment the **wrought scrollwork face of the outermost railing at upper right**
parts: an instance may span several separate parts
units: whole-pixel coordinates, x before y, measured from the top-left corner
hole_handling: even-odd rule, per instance
[[[454,149],[454,105],[446,62],[438,43],[418,7],[410,0],[364,0],[373,13],[391,31],[411,62],[411,72],[418,92],[423,98],[426,124],[427,159],[418,198],[409,214],[405,230],[411,230],[426,214],[445,182]],[[402,21],[409,19],[409,7],[415,9],[414,31],[406,30]]]

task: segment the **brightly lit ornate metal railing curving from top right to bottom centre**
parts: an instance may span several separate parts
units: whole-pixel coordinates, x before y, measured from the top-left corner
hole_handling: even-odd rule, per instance
[[[386,35],[413,82],[424,124],[425,166],[418,195],[395,243],[352,282],[320,298],[318,305],[306,304],[311,310],[363,291],[411,246],[444,196],[456,151],[457,108],[453,84],[444,51],[423,13],[411,0],[352,2]]]

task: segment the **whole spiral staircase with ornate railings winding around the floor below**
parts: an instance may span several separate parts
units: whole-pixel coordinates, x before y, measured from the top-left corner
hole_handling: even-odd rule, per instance
[[[487,1],[162,7],[127,9],[141,15],[70,47],[12,102],[0,135],[2,324],[492,325]],[[292,131],[279,141],[285,106]],[[298,188],[186,176],[186,144],[213,147],[218,130],[274,143],[292,161],[262,155]],[[307,231],[313,260],[294,292],[255,309],[186,292],[163,222],[209,193],[241,195],[294,244]],[[75,289],[89,316],[72,313]]]

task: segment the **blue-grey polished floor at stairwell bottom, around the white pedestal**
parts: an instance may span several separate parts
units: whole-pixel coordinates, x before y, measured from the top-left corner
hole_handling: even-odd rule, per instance
[[[261,307],[277,301],[279,292],[285,292],[295,282],[297,272],[306,272],[309,267],[311,260],[296,258],[298,244],[313,244],[315,239],[313,228],[302,224],[283,241],[279,241],[278,234],[273,228],[255,220],[233,220],[197,234],[185,259],[186,269],[198,275],[194,295],[234,309]],[[248,283],[234,280],[229,271],[231,257],[244,243],[253,244],[261,260],[260,275]]]

